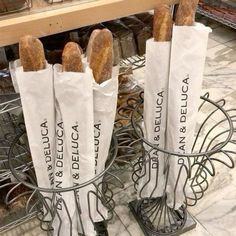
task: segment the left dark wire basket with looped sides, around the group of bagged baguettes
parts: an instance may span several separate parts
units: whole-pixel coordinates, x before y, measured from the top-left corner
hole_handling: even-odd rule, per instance
[[[66,221],[68,224],[66,227],[69,230],[69,235],[72,234],[73,219],[70,215],[70,206],[68,201],[64,199],[66,194],[72,194],[75,199],[75,211],[79,217],[79,232],[78,235],[87,235],[83,225],[87,224],[85,218],[81,214],[81,205],[79,201],[79,192],[88,186],[93,186],[93,190],[88,191],[87,204],[88,215],[86,221],[91,221],[96,231],[96,235],[108,235],[107,222],[113,217],[113,210],[115,203],[113,200],[113,191],[110,185],[114,185],[117,182],[116,177],[109,172],[114,159],[117,155],[117,140],[113,135],[109,157],[106,163],[106,169],[98,174],[94,179],[89,180],[80,185],[76,185],[68,188],[53,188],[46,189],[37,186],[37,179],[33,168],[32,161],[26,161],[30,157],[29,145],[25,131],[22,131],[15,137],[12,145],[9,149],[9,167],[17,180],[17,183],[23,184],[27,189],[30,189],[30,197],[25,204],[25,211],[27,214],[36,212],[36,217],[40,221],[40,227],[42,230],[47,231],[49,235],[56,231],[56,235],[63,235],[63,226]],[[24,166],[24,168],[18,168],[18,166]],[[118,180],[119,181],[119,180]],[[121,186],[122,187],[122,186]],[[49,195],[48,195],[49,194]],[[65,214],[61,218],[61,210],[67,212],[66,219]],[[105,210],[104,210],[105,209]],[[93,217],[94,211],[100,220],[96,220]],[[55,221],[57,226],[55,227]],[[55,235],[55,232],[54,232]]]

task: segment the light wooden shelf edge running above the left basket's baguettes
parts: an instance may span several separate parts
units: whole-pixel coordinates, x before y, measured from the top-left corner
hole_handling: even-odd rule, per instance
[[[178,0],[95,0],[9,15],[0,18],[0,46],[17,43],[25,34],[43,37],[147,11],[160,3],[177,2]]]

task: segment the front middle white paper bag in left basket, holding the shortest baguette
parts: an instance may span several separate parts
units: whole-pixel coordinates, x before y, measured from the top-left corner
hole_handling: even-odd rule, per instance
[[[55,96],[64,122],[68,159],[71,161],[71,174],[74,185],[84,183],[95,177],[94,119],[93,119],[93,75],[89,68],[85,73],[61,72],[60,65],[54,66]],[[93,185],[80,188],[77,200],[81,214],[74,211],[78,231],[94,236],[94,226],[90,220],[94,211],[94,201],[89,201],[88,193],[94,191]],[[92,216],[91,216],[92,217]]]

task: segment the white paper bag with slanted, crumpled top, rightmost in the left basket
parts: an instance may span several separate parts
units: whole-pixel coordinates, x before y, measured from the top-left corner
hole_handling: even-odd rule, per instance
[[[118,67],[114,68],[112,79],[102,84],[97,84],[94,81],[93,84],[96,175],[99,175],[105,169],[116,115],[117,94]],[[99,185],[101,181],[102,179],[99,179],[97,185]],[[106,208],[100,201],[96,201],[95,204],[98,209],[98,211],[95,211],[95,222],[102,221],[104,218],[107,219]]]

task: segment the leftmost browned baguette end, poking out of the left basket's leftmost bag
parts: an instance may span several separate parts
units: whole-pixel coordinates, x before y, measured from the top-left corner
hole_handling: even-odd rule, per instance
[[[38,71],[46,67],[43,44],[31,35],[20,39],[19,55],[24,71]]]

